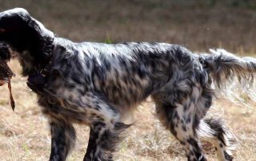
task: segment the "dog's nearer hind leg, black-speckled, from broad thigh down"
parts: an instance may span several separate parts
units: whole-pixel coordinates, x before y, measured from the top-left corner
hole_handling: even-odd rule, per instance
[[[198,139],[198,126],[210,108],[213,92],[200,84],[185,81],[152,96],[162,124],[182,144],[191,160],[206,160]]]

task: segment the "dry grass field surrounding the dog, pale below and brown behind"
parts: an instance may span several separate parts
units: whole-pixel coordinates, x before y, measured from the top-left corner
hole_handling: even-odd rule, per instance
[[[183,3],[182,3],[183,2]],[[59,36],[74,41],[166,41],[186,45],[192,51],[222,46],[235,53],[255,54],[256,5],[237,1],[2,1],[0,11],[25,7]],[[18,73],[18,61],[10,61],[16,109],[9,104],[6,86],[0,88],[0,159],[47,160],[50,130],[36,96]],[[256,160],[256,108],[231,103],[220,96],[209,115],[222,117],[238,139],[234,160]],[[135,112],[137,120],[116,152],[116,160],[186,160],[185,152],[154,117],[148,99]],[[89,128],[76,125],[77,145],[70,161],[82,160]],[[214,147],[204,143],[209,160],[217,160]]]

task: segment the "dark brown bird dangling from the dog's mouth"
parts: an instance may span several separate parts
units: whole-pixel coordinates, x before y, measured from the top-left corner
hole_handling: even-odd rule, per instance
[[[15,102],[11,92],[11,84],[10,80],[14,77],[14,73],[11,71],[10,67],[7,65],[7,61],[10,60],[10,52],[8,49],[8,45],[0,42],[0,86],[4,84],[8,84],[9,92],[10,92],[10,105],[14,110]]]

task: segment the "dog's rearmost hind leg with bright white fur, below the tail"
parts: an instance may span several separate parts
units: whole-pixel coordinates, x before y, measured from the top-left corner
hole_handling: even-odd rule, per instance
[[[222,120],[216,118],[202,120],[199,125],[198,135],[214,144],[218,151],[218,160],[233,160],[231,150],[234,150],[235,139],[226,129]]]

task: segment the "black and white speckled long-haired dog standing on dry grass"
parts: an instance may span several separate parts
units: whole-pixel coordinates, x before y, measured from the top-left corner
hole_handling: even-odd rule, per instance
[[[130,42],[74,43],[46,29],[24,9],[0,13],[0,41],[18,55],[22,75],[49,117],[50,160],[66,160],[74,147],[74,123],[90,126],[84,160],[112,160],[125,118],[151,96],[162,124],[179,140],[188,160],[206,160],[199,137],[232,160],[232,137],[218,119],[203,119],[216,88],[238,77],[253,82],[253,58],[218,49],[194,54],[180,45]]]

